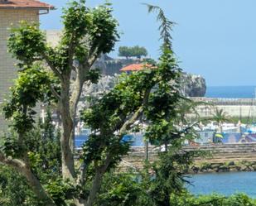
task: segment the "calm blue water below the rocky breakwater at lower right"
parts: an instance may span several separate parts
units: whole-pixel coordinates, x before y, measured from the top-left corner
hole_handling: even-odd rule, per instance
[[[248,194],[256,198],[256,172],[227,172],[191,175],[187,188],[192,194]]]

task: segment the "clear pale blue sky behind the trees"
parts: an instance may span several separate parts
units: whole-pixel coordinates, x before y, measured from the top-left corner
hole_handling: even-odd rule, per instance
[[[41,16],[42,29],[60,30],[61,7],[66,0],[41,0],[56,11]],[[104,0],[87,0],[95,7]],[[159,57],[156,15],[146,2],[162,7],[173,27],[173,50],[181,69],[200,74],[207,86],[256,85],[255,0],[110,0],[119,22],[118,46],[144,46],[150,57]]]

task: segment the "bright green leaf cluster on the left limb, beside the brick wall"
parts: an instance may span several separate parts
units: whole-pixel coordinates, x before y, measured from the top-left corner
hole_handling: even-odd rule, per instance
[[[5,117],[12,118],[12,128],[17,133],[25,134],[33,127],[36,103],[45,101],[51,95],[47,88],[49,84],[51,74],[39,64],[19,73],[15,86],[11,88],[10,100],[3,107]]]

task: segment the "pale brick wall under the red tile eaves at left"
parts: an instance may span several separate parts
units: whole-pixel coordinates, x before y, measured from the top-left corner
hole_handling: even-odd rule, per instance
[[[0,103],[8,93],[17,78],[16,60],[7,52],[7,38],[10,35],[10,26],[18,26],[20,21],[38,22],[38,10],[36,9],[0,9]],[[0,131],[6,128],[0,115]]]

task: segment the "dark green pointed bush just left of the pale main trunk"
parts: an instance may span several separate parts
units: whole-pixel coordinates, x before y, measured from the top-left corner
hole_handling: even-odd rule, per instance
[[[32,170],[43,181],[58,179],[61,174],[60,130],[52,124],[51,115],[48,108],[45,122],[40,121],[25,140]]]

